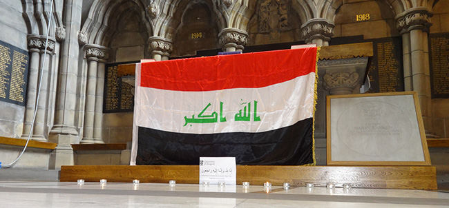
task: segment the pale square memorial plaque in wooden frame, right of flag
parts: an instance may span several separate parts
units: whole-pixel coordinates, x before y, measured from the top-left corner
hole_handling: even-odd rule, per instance
[[[327,96],[327,165],[430,165],[416,92]]]

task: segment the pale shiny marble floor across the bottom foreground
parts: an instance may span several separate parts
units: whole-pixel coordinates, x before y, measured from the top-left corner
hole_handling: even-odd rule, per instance
[[[449,191],[0,181],[0,207],[449,207]]]

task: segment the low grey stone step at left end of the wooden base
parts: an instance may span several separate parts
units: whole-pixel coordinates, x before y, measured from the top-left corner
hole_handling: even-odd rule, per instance
[[[0,180],[58,181],[59,170],[0,168]]]

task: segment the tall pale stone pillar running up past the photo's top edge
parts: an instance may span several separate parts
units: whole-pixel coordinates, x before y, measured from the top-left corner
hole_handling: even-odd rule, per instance
[[[78,31],[81,28],[82,0],[67,0],[64,3],[64,25],[66,39],[61,46],[59,80],[55,125],[49,141],[57,143],[50,155],[50,169],[60,169],[61,165],[73,165],[71,144],[79,142],[75,127],[75,105],[77,103],[77,79],[79,43]]]

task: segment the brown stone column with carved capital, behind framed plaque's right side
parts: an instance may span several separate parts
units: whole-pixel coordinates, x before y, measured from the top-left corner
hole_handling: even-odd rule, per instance
[[[412,8],[398,14],[397,27],[403,37],[404,55],[404,83],[405,90],[418,93],[426,131],[432,131],[431,121],[431,92],[430,92],[430,66],[428,58],[428,32],[432,25],[432,13],[427,8]],[[410,57],[410,58],[409,58]],[[410,59],[410,61],[406,60]],[[407,62],[405,62],[407,61]]]

